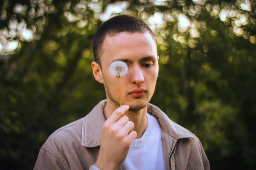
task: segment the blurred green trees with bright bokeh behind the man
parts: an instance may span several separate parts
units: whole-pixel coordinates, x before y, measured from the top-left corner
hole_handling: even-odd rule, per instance
[[[155,32],[152,104],[201,140],[211,169],[255,169],[255,0],[0,2],[0,163],[32,169],[59,127],[102,99],[92,37],[124,13]]]

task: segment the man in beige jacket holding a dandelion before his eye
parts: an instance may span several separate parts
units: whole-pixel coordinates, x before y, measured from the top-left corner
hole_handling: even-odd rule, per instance
[[[34,169],[210,169],[199,139],[149,104],[158,77],[153,32],[141,20],[119,15],[93,39],[94,78],[107,100],[85,117],[55,131],[40,149]],[[128,65],[120,79],[109,67]]]

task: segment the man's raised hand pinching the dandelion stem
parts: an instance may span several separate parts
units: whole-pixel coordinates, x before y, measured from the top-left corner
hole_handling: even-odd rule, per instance
[[[117,108],[103,124],[99,156],[94,164],[100,170],[116,170],[128,155],[132,141],[137,133],[134,124],[127,116],[122,116],[128,105]]]

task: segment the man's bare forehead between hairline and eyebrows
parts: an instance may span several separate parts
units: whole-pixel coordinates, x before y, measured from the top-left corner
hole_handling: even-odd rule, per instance
[[[147,56],[157,58],[155,40],[148,32],[121,32],[113,36],[107,35],[102,44],[102,63],[109,63],[117,59],[135,61]]]

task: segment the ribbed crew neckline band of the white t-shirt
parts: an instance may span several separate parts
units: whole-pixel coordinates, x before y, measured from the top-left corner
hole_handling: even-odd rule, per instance
[[[147,128],[144,132],[144,134],[142,135],[142,137],[140,139],[134,139],[131,143],[131,148],[139,148],[139,147],[143,147],[146,142],[148,141],[148,139],[150,138],[152,131],[153,131],[153,126],[152,126],[152,119],[150,118],[149,114],[147,113],[147,120],[148,120],[148,124],[147,124]]]

